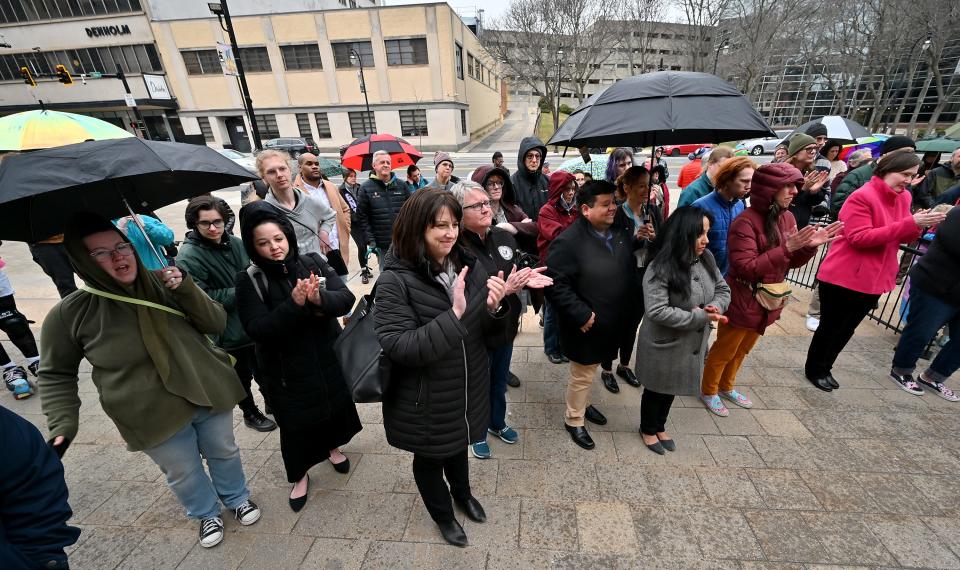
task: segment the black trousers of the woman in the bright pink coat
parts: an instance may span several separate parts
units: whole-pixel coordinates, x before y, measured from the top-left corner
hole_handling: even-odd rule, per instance
[[[820,326],[813,333],[804,373],[807,378],[824,378],[833,369],[857,326],[874,307],[880,295],[869,295],[846,287],[820,282]]]

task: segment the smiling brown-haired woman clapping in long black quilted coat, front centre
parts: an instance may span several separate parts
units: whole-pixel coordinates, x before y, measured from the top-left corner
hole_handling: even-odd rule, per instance
[[[390,445],[413,452],[413,476],[443,538],[466,546],[451,495],[474,521],[467,447],[490,422],[485,335],[504,334],[505,283],[457,245],[463,212],[449,192],[418,190],[393,228],[374,323],[393,370],[383,399]],[[449,490],[444,482],[446,475]]]

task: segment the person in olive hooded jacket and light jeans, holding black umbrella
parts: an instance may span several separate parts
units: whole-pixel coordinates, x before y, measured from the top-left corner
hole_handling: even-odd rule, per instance
[[[240,524],[257,522],[233,435],[231,412],[245,394],[227,353],[205,336],[223,331],[226,311],[176,267],[148,271],[127,237],[96,214],[75,214],[64,245],[85,285],[50,310],[40,336],[41,409],[54,449],[62,456],[77,436],[86,359],[104,413],[128,450],[163,471],[200,523],[200,546],[223,540],[221,503]]]

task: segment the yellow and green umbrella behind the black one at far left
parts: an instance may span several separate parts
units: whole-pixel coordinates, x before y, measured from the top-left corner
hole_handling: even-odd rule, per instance
[[[40,150],[87,140],[132,136],[100,119],[47,109],[24,111],[0,118],[0,152]]]

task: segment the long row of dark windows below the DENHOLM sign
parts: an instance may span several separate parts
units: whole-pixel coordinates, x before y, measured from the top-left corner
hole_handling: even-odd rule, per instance
[[[3,6],[2,1],[0,6]],[[117,65],[128,74],[163,71],[157,48],[152,44],[136,44],[0,55],[0,80],[19,81],[23,66],[29,67],[35,75],[50,75],[57,64],[66,65],[77,75],[94,71],[116,73]]]

